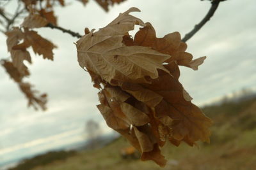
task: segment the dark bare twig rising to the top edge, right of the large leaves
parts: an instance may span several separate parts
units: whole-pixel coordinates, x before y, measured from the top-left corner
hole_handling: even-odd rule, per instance
[[[190,39],[197,31],[199,31],[204,26],[204,24],[207,21],[209,21],[211,17],[214,15],[214,12],[217,10],[219,4],[220,4],[220,0],[212,1],[212,6],[208,11],[208,13],[205,15],[205,17],[203,18],[203,20],[199,24],[195,25],[194,29],[188,32],[188,34],[186,34],[184,38],[181,39],[181,41],[183,42],[188,41],[188,39]]]

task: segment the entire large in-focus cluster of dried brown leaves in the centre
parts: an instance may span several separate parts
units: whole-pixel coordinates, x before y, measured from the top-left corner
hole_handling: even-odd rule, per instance
[[[209,141],[212,122],[191,103],[179,82],[179,66],[197,69],[205,57],[193,60],[179,32],[156,38],[149,23],[129,15],[131,8],[106,27],[86,29],[77,41],[79,65],[100,89],[97,106],[107,124],[141,152],[142,160],[164,166],[160,148],[166,141]],[[129,31],[141,25],[131,38]]]

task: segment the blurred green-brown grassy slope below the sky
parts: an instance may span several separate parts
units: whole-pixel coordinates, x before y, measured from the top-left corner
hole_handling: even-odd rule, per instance
[[[254,170],[256,167],[256,99],[207,106],[202,110],[215,123],[211,128],[211,144],[198,143],[198,147],[190,147],[184,143],[179,147],[167,144],[162,148],[162,153],[168,160],[164,168],[158,167],[152,161],[122,159],[120,150],[129,146],[129,143],[124,138],[118,138],[104,148],[79,152],[65,160],[55,160],[33,169]]]

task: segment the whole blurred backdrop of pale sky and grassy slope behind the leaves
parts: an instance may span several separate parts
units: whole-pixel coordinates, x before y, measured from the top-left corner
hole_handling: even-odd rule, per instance
[[[82,35],[84,27],[104,27],[118,13],[135,6],[141,12],[132,15],[150,22],[157,37],[174,31],[183,37],[211,7],[209,1],[200,0],[127,0],[106,12],[92,0],[86,6],[66,2],[65,8],[54,10],[58,25]],[[4,8],[12,12],[15,5],[11,1]],[[193,103],[214,120],[211,144],[198,143],[199,149],[164,146],[168,159],[164,169],[256,167],[255,11],[253,0],[224,1],[187,42],[187,52],[195,58],[207,56],[198,71],[180,67],[180,81]],[[0,68],[0,169],[19,163],[16,169],[160,169],[138,160],[127,141],[106,125],[96,108],[98,90],[77,62],[77,38],[55,29],[36,31],[58,46],[54,62],[33,55],[33,64],[28,64],[31,76],[26,80],[47,92],[48,109],[27,108],[19,87]],[[2,58],[10,56],[5,41],[1,34]]]

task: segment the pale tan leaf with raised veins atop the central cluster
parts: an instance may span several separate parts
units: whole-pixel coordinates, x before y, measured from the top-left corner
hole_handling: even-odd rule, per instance
[[[95,33],[91,31],[77,41],[79,65],[100,75],[112,85],[120,80],[148,82],[145,76],[157,78],[157,69],[167,71],[162,62],[170,58],[170,55],[156,52],[149,47],[125,46],[122,43],[122,36],[134,29],[134,24],[143,25],[138,18],[129,15],[131,11],[138,9],[131,8],[108,26]]]

